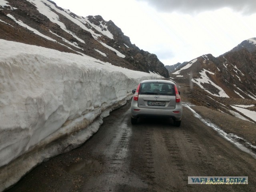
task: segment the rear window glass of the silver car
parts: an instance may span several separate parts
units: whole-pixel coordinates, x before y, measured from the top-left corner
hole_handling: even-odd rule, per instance
[[[139,94],[144,95],[175,95],[174,84],[147,82],[140,85]]]

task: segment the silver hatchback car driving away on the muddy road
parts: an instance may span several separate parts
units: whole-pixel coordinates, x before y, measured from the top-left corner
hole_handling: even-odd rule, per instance
[[[144,80],[132,93],[132,124],[136,124],[139,117],[169,117],[173,119],[175,126],[180,126],[182,102],[174,82]]]

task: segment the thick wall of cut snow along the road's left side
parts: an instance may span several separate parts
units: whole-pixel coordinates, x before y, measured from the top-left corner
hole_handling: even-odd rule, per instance
[[[0,191],[85,142],[151,73],[0,40]]]

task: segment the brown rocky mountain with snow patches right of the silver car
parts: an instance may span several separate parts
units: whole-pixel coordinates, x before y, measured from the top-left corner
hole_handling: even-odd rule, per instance
[[[221,56],[207,54],[179,64],[170,76],[175,82],[190,85],[188,94],[193,103],[228,114],[238,104],[248,104],[248,109],[256,111],[256,38]]]

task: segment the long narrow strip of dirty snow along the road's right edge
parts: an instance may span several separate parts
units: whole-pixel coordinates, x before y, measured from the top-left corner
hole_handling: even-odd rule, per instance
[[[221,136],[223,136],[226,140],[233,143],[236,147],[238,147],[240,150],[247,152],[248,154],[252,155],[254,158],[256,158],[256,154],[253,152],[256,150],[256,146],[250,144],[245,139],[240,138],[236,136],[235,134],[227,134],[224,132],[221,128],[219,128],[217,125],[213,124],[212,122],[208,122],[207,120],[204,120],[202,116],[200,116],[196,111],[194,111],[190,106],[189,103],[182,103],[183,106],[188,108],[196,118],[198,118],[201,122],[206,124],[207,126],[213,128],[216,130]]]

